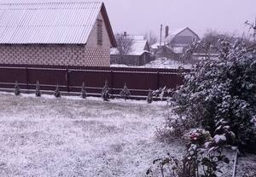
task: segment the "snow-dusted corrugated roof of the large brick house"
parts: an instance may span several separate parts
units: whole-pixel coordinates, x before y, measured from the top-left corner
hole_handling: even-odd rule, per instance
[[[85,44],[100,12],[111,43],[116,46],[102,2],[2,3],[0,43]]]

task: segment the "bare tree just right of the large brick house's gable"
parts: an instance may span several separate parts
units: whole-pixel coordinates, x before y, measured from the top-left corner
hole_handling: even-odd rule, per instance
[[[117,49],[119,50],[119,54],[121,56],[132,52],[132,45],[134,43],[133,37],[126,35],[126,32],[124,32],[117,33],[115,38],[118,46]]]

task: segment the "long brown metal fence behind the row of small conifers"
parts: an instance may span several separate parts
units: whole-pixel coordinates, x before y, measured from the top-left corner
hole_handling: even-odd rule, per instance
[[[126,83],[133,96],[146,96],[148,89],[176,88],[183,82],[180,71],[170,69],[0,65],[2,89],[13,89],[17,81],[29,92],[35,89],[37,80],[42,90],[55,90],[59,84],[67,94],[79,93],[84,82],[86,91],[95,95],[101,94],[105,81],[113,95],[119,94]]]

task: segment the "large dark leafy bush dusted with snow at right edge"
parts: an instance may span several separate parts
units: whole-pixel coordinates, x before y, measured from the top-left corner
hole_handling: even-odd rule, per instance
[[[188,128],[211,134],[229,128],[236,135],[230,143],[250,149],[256,146],[256,54],[242,42],[221,40],[220,46],[218,60],[203,60],[184,77],[172,97],[173,111],[193,122]]]

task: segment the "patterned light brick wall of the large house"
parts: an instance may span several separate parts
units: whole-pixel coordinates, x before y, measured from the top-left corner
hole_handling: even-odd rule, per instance
[[[102,19],[102,14],[99,14]],[[103,21],[102,45],[97,45],[96,25],[83,44],[0,44],[0,64],[110,66],[110,40]]]

